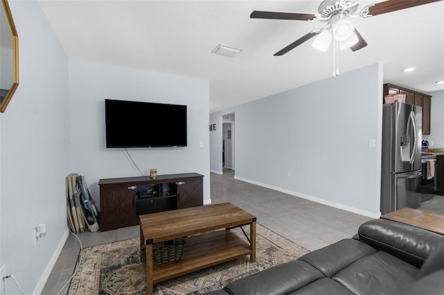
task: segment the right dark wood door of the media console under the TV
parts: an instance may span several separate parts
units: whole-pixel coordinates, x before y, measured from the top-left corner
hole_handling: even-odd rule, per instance
[[[200,180],[187,180],[178,185],[178,209],[203,205],[203,185]]]

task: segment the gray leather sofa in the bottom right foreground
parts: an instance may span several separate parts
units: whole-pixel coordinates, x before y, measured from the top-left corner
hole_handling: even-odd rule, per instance
[[[207,295],[444,294],[444,237],[375,219],[352,239],[241,278]]]

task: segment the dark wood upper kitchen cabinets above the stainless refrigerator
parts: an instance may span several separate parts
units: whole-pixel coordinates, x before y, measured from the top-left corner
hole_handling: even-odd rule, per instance
[[[386,95],[406,94],[405,102],[422,107],[422,134],[430,134],[430,117],[432,110],[432,96],[409,90],[393,84],[384,84],[382,101]]]

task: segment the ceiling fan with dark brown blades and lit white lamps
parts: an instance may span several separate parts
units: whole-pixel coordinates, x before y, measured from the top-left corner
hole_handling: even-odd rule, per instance
[[[355,26],[348,19],[349,17],[372,17],[383,13],[411,8],[422,4],[432,3],[442,0],[387,0],[374,5],[367,6],[357,12],[359,0],[325,0],[319,5],[318,13],[298,13],[298,12],[271,12],[253,11],[250,15],[252,19],[291,19],[302,21],[319,20],[325,22],[325,26],[303,35],[295,42],[289,44],[284,49],[276,52],[275,56],[282,56],[285,53],[298,47],[300,44],[316,37],[313,46],[322,51],[327,51],[330,47],[332,37],[335,46],[339,44],[341,49],[350,48],[357,51],[367,46],[366,40],[359,34]],[[335,47],[336,48],[336,47]]]

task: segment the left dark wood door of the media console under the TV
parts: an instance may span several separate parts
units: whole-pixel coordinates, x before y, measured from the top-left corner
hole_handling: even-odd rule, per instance
[[[138,224],[135,190],[128,185],[100,187],[101,230],[111,230]]]

